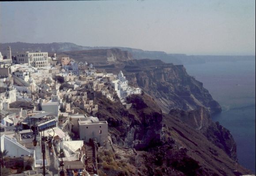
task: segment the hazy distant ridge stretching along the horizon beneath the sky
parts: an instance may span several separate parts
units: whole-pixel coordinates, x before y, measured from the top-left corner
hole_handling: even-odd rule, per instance
[[[0,52],[6,55],[6,48],[11,46],[13,55],[17,51],[36,51],[41,50],[49,53],[61,53],[65,51],[80,50],[101,50],[117,48],[128,51],[134,59],[160,59],[166,63],[180,64],[199,64],[214,61],[252,61],[255,56],[209,56],[209,55],[186,55],[186,54],[167,54],[163,51],[147,51],[129,47],[84,47],[74,43],[0,43]],[[171,50],[171,49],[170,49]],[[101,51],[100,51],[101,52]]]

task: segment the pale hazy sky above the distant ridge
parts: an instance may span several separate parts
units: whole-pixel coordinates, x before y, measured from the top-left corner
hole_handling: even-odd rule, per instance
[[[255,55],[255,0],[0,2],[0,43]]]

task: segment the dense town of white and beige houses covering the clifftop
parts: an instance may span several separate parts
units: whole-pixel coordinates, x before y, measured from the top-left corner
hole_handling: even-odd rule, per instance
[[[1,151],[7,150],[11,158],[33,157],[32,168],[37,172],[43,159],[40,144],[31,145],[31,126],[45,130],[45,137],[53,140],[54,150],[48,148],[50,156],[45,159],[48,169],[51,165],[60,169],[61,152],[69,167],[72,162],[84,166],[85,143],[109,147],[111,140],[108,123],[94,117],[98,111],[94,92],[112,101],[116,93],[123,103],[127,96],[141,93],[128,85],[122,71],[114,75],[87,62],[56,54],[49,57],[41,51],[18,52],[14,61],[11,47],[7,51],[5,59],[0,53]],[[85,113],[75,112],[77,108]]]

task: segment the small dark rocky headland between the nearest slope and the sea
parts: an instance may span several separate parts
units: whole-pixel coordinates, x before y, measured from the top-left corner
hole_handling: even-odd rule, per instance
[[[169,115],[181,119],[193,129],[200,131],[209,141],[237,161],[237,147],[230,131],[218,122],[212,122],[211,116],[205,108],[201,107],[193,111],[173,109]]]

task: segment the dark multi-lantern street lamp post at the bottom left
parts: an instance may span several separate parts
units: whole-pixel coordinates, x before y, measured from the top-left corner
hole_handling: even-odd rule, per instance
[[[32,128],[32,127],[34,127],[34,128]],[[30,127],[30,131],[33,129],[34,129],[34,140],[32,140],[32,142],[33,142],[34,147],[36,147],[37,143],[38,143],[38,141],[36,139],[37,130],[38,131],[40,131],[40,130],[37,125],[33,125]],[[53,129],[53,128],[51,128],[51,129]],[[41,148],[42,148],[42,153],[43,153],[43,175],[45,176],[45,129],[43,129],[43,133],[42,133],[42,131],[40,131],[40,132],[41,132]],[[55,134],[55,132],[53,129],[53,137],[54,137],[54,134]],[[50,143],[52,143],[51,140],[49,140],[49,144]],[[51,148],[51,147],[52,147],[52,145],[49,145],[49,148]]]

